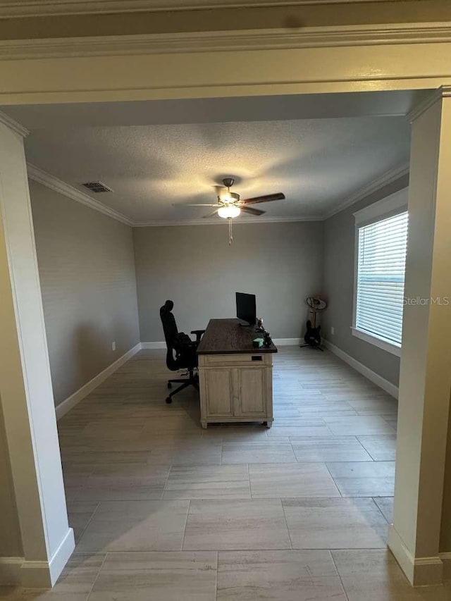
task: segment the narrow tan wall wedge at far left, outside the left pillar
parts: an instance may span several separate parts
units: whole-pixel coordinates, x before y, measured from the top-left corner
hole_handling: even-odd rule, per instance
[[[0,399],[0,557],[21,557],[22,540]]]

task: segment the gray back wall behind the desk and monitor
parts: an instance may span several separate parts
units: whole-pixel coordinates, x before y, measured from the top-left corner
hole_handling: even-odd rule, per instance
[[[237,223],[233,235],[229,247],[226,223],[133,230],[142,342],[164,340],[166,299],[178,329],[190,332],[234,317],[235,292],[257,295],[273,337],[299,337],[304,299],[321,290],[323,223]]]

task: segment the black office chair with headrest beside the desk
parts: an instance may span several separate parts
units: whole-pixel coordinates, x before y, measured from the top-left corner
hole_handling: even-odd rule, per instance
[[[163,324],[164,338],[168,349],[166,353],[166,365],[171,371],[187,369],[188,378],[168,380],[168,388],[172,388],[173,384],[180,384],[180,386],[173,390],[166,398],[166,403],[171,403],[171,397],[180,392],[180,390],[187,388],[187,386],[194,386],[196,390],[199,390],[199,376],[197,373],[194,373],[194,370],[197,368],[196,350],[205,331],[192,330],[191,333],[196,335],[196,342],[193,342],[187,334],[179,332],[172,314],[173,306],[173,302],[167,300],[160,309],[161,323]]]

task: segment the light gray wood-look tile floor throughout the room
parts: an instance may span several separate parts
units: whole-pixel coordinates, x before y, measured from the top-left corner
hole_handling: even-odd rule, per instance
[[[445,601],[386,548],[396,401],[329,352],[274,357],[274,425],[199,427],[142,351],[58,422],[77,547],[8,601]]]

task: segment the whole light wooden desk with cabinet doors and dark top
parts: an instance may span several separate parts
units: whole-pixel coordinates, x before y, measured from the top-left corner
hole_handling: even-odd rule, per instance
[[[237,319],[211,319],[199,355],[202,428],[218,421],[273,423],[273,353],[276,347],[252,347],[259,337]]]

